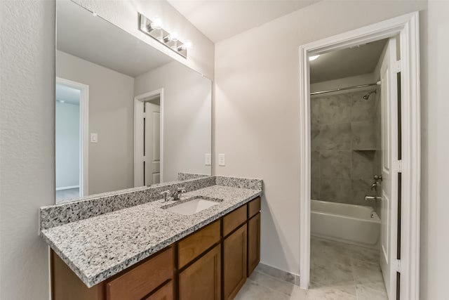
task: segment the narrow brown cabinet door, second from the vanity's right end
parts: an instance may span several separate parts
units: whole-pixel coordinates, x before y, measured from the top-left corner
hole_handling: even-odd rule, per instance
[[[246,224],[223,242],[223,289],[225,299],[234,299],[246,282]]]

